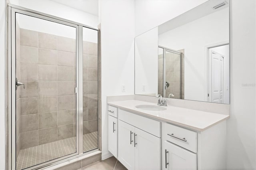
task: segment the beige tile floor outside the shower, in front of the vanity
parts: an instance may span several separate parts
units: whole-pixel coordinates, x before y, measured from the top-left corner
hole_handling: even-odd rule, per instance
[[[114,156],[95,162],[80,170],[127,170]]]

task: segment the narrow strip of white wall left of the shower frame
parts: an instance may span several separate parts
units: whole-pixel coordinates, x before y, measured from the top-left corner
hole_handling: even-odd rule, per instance
[[[0,0],[0,170],[5,169],[6,157],[6,2]]]

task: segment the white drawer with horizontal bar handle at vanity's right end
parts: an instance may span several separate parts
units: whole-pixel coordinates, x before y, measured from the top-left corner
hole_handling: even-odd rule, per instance
[[[162,123],[162,139],[194,153],[197,152],[197,132],[168,123]]]

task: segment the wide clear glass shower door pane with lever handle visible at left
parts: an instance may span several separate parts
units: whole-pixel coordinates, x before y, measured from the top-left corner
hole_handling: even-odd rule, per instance
[[[77,153],[76,30],[16,13],[16,169]]]

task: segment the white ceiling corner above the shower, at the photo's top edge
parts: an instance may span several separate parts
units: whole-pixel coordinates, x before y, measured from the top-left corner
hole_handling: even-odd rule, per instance
[[[52,0],[52,1],[98,16],[98,0]]]

